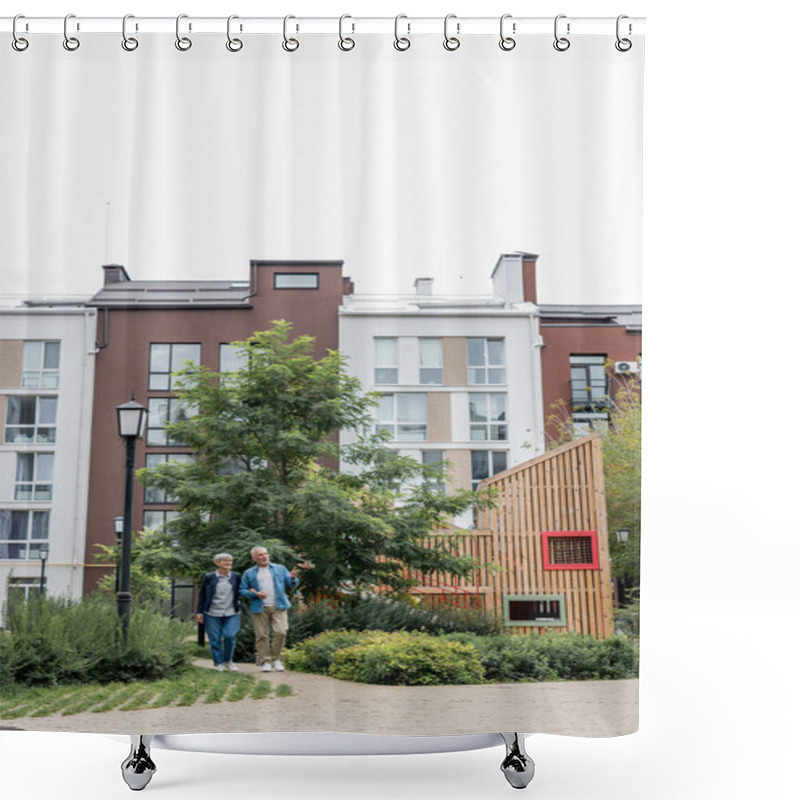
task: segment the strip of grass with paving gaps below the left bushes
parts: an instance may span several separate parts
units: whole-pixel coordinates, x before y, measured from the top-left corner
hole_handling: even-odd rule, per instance
[[[175,678],[146,682],[69,686],[0,687],[0,719],[69,716],[82,711],[132,711],[164,706],[191,706],[198,702],[236,702],[246,698],[288,697],[286,684],[273,687],[253,675],[216,672],[191,667]]]

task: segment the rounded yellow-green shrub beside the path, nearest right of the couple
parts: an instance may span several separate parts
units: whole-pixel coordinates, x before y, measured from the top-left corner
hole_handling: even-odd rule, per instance
[[[337,650],[329,674],[334,678],[390,686],[440,686],[483,683],[477,650],[418,631],[371,634]]]

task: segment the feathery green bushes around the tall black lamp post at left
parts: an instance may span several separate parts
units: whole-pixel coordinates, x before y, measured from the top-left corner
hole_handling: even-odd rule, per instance
[[[33,596],[6,611],[0,636],[5,684],[28,686],[156,680],[189,666],[186,623],[134,609],[126,642],[116,604]]]

